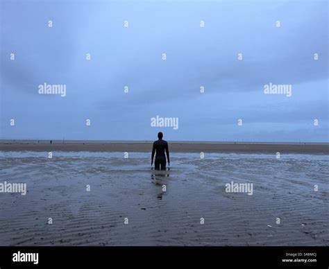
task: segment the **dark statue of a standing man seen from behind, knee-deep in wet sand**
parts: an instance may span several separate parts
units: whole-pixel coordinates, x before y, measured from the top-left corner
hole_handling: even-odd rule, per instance
[[[168,149],[168,143],[165,140],[162,140],[163,134],[162,132],[158,133],[158,140],[154,141],[153,143],[153,149],[152,149],[152,159],[151,159],[151,166],[153,165],[153,157],[154,153],[155,154],[155,170],[166,170],[166,156],[165,153],[167,154],[167,159],[168,159],[168,165],[170,165],[170,160],[169,160],[169,149]]]

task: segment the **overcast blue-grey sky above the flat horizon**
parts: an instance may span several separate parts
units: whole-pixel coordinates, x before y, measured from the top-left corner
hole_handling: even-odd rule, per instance
[[[329,142],[328,1],[2,0],[0,18],[0,139]]]

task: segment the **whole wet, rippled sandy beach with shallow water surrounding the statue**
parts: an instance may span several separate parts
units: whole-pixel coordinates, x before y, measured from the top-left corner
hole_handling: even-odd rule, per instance
[[[150,144],[1,144],[1,182],[27,192],[0,193],[0,245],[329,245],[328,146],[229,146],[171,144],[155,172]]]

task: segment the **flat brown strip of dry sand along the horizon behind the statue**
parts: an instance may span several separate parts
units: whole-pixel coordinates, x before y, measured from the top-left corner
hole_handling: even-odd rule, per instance
[[[90,152],[151,152],[152,142],[0,142],[0,151],[90,151]],[[266,144],[251,142],[170,142],[169,150],[179,153],[270,153],[329,154],[329,144]]]

